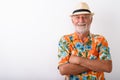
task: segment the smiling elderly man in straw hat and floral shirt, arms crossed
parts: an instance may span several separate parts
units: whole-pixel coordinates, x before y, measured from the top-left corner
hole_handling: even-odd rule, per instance
[[[107,40],[90,33],[93,13],[81,2],[71,15],[75,32],[59,41],[59,71],[65,80],[105,80],[104,72],[112,71]]]

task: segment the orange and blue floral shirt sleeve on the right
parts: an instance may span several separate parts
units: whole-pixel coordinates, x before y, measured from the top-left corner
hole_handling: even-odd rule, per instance
[[[102,37],[99,43],[99,58],[100,60],[111,60],[110,48],[108,47],[107,40]]]

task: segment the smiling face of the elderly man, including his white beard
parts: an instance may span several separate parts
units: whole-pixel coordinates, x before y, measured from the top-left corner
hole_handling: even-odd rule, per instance
[[[89,32],[90,24],[92,22],[92,15],[90,14],[79,14],[71,16],[72,22],[75,26],[75,30],[78,33],[84,34]]]

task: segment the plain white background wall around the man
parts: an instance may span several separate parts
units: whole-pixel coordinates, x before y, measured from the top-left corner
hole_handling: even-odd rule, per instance
[[[69,15],[80,1],[95,13],[91,32],[109,42],[113,70],[106,80],[119,80],[119,0],[0,0],[0,80],[64,80],[58,41],[74,32]]]

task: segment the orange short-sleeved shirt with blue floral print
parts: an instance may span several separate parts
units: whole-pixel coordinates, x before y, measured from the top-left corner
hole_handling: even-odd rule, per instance
[[[77,33],[64,35],[58,46],[59,65],[69,62],[70,55],[77,55],[91,60],[111,60],[106,39],[101,35],[89,34],[84,43]],[[69,80],[104,80],[103,72],[88,71],[79,75],[70,75]]]

